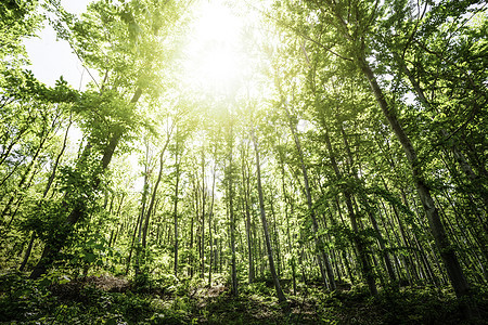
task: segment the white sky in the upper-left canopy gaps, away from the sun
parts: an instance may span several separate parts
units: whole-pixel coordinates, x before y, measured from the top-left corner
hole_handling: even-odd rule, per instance
[[[79,14],[85,12],[90,0],[62,0],[62,5],[70,13]],[[27,39],[25,42],[31,65],[27,68],[48,86],[54,86],[60,76],[75,89],[80,84],[85,86],[89,81],[87,73],[84,74],[78,57],[72,53],[69,44],[64,41],[56,41],[55,31],[46,23],[44,28],[39,32],[39,37]]]

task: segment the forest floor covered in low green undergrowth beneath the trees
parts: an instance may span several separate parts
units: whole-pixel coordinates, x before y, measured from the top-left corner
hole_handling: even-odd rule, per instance
[[[265,282],[241,285],[237,297],[223,284],[164,283],[0,275],[0,324],[463,324],[452,295],[425,287],[371,298],[364,288],[324,292],[313,285],[292,295],[285,283],[288,300],[281,306]],[[488,320],[487,296],[476,297]]]

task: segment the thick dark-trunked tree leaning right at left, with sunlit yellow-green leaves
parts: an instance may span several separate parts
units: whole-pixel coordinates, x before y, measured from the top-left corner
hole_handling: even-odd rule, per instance
[[[158,10],[163,4],[155,2],[152,5],[153,10]],[[56,25],[60,35],[72,42],[86,64],[99,68],[104,74],[104,79],[102,84],[94,81],[99,91],[87,91],[76,106],[77,112],[84,115],[84,127],[89,141],[73,176],[88,174],[85,179],[73,181],[81,182],[88,193],[80,193],[81,197],[67,195],[63,199],[62,206],[70,212],[61,223],[61,233],[52,233],[48,238],[41,259],[31,273],[33,278],[46,273],[66,245],[74,225],[87,213],[88,207],[82,196],[92,197],[119,142],[138,126],[134,108],[143,91],[150,91],[154,86],[147,82],[154,78],[150,68],[156,63],[154,51],[157,53],[160,50],[160,46],[157,46],[158,32],[164,20],[158,15],[149,18],[147,11],[137,3],[115,5],[94,2],[89,6],[89,14],[85,14],[81,21],[74,20],[59,6],[55,10],[63,18]],[[169,16],[174,15],[171,10]],[[63,23],[68,24],[69,29]],[[127,39],[130,43],[126,42]],[[107,54],[101,51],[104,49]],[[134,49],[140,51],[133,51]],[[127,56],[126,61],[120,61],[124,55]],[[94,159],[94,164],[90,166],[89,159]],[[70,187],[68,192],[73,190]]]

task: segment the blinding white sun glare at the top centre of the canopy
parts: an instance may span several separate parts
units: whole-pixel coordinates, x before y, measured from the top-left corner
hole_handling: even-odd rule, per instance
[[[184,79],[204,91],[229,91],[242,70],[242,18],[221,1],[202,2],[197,10],[184,50]]]

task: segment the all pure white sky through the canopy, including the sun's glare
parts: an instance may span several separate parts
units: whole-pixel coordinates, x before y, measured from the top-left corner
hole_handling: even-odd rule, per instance
[[[91,0],[61,1],[68,12],[75,14],[85,12],[89,2]],[[242,20],[220,2],[200,1],[192,28],[195,32],[190,47],[184,51],[185,69],[192,72],[184,74],[184,79],[188,79],[184,81],[203,91],[227,88],[240,78],[239,62],[242,60],[236,48]],[[54,86],[60,76],[75,89],[84,90],[90,81],[89,74],[72,53],[69,44],[64,40],[56,41],[55,31],[49,24],[46,24],[38,38],[26,40],[25,46],[31,62],[28,68],[48,86]]]

